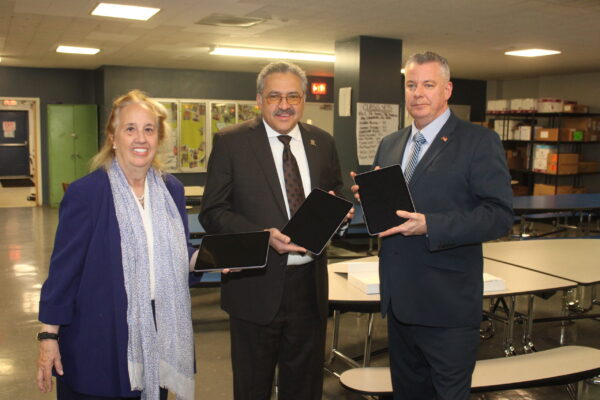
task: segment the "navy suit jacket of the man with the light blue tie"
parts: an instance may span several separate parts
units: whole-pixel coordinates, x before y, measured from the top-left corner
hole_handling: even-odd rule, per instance
[[[374,165],[402,162],[407,127],[386,136]],[[381,310],[402,322],[479,326],[483,298],[481,243],[513,223],[510,174],[498,134],[450,116],[409,184],[427,235],[384,238]]]

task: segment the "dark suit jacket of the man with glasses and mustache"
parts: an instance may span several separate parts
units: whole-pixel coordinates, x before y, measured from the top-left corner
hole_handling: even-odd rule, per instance
[[[299,126],[312,188],[339,193],[342,177],[333,137],[312,125]],[[207,233],[281,229],[288,221],[283,196],[262,119],[217,133],[200,212]],[[235,318],[269,323],[279,309],[286,264],[287,255],[270,249],[266,268],[223,276],[222,308]],[[326,252],[316,259],[315,286],[319,314],[326,318]]]

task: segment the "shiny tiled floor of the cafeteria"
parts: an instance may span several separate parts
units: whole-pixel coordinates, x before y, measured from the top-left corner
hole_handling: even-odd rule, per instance
[[[54,395],[39,393],[34,384],[39,329],[37,308],[39,290],[48,272],[58,212],[51,208],[0,208],[0,400],[42,400]],[[336,249],[337,255],[348,255]],[[355,254],[358,255],[358,254]],[[523,302],[521,302],[523,303]],[[196,332],[198,373],[197,399],[232,398],[227,314],[219,307],[219,288],[193,288],[193,321]],[[554,314],[560,307],[558,295],[536,298],[536,316]],[[342,315],[341,349],[353,355],[362,352],[366,315]],[[331,324],[330,324],[331,325]],[[539,350],[559,345],[560,323],[536,324],[534,338]],[[600,348],[600,322],[579,320],[567,329],[570,344]],[[502,326],[496,335],[481,343],[479,358],[501,357]],[[328,344],[331,343],[329,326]],[[375,318],[374,349],[386,347],[385,321]],[[517,327],[517,333],[521,326]],[[387,355],[374,356],[372,365],[387,365]],[[346,368],[335,362],[338,370]],[[600,386],[585,385],[584,399],[600,399]],[[472,399],[568,399],[565,387],[514,390],[473,395]],[[323,399],[362,399],[343,389],[337,379],[326,374]],[[287,399],[286,399],[287,400]]]

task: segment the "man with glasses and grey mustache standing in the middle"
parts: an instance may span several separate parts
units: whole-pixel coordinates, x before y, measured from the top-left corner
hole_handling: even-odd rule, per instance
[[[267,65],[257,79],[262,117],[219,132],[208,163],[206,231],[271,232],[266,268],[222,275],[236,400],[269,399],[276,365],[279,398],[321,398],[327,256],[305,254],[279,231],[312,188],[342,186],[333,137],[300,122],[306,86],[298,66]]]

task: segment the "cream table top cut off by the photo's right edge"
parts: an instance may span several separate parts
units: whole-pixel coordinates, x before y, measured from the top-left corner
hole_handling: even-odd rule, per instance
[[[583,285],[600,282],[600,240],[598,239],[484,243],[483,256]]]

